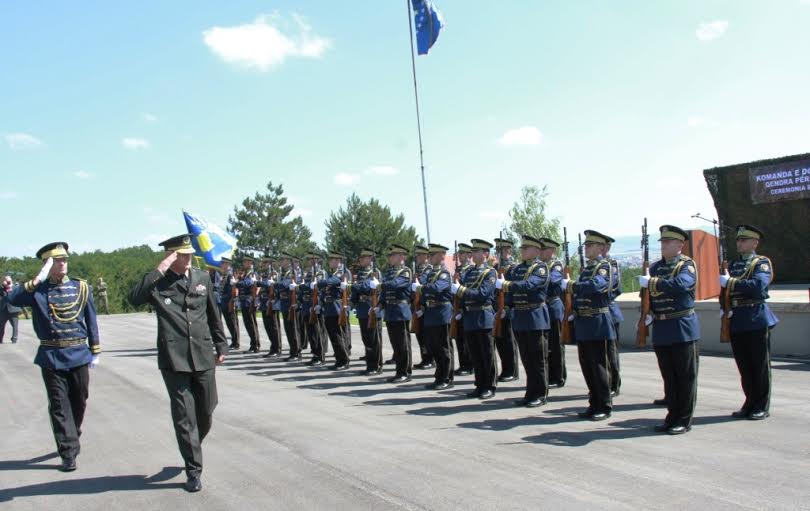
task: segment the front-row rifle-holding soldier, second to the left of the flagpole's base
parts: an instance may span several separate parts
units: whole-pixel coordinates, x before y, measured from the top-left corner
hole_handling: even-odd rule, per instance
[[[352,284],[351,305],[354,314],[360,323],[360,336],[363,339],[363,346],[366,348],[366,371],[365,376],[374,376],[382,373],[382,324],[376,321],[372,327],[369,324],[371,311],[371,295],[379,287],[382,274],[372,265],[374,251],[364,248],[360,251],[357,272],[357,280]]]

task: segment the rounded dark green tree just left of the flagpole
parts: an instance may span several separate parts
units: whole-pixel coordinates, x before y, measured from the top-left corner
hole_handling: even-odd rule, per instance
[[[348,261],[357,259],[366,247],[380,254],[392,243],[410,248],[423,242],[414,227],[405,225],[404,215],[394,216],[377,199],[365,202],[354,193],[344,207],[329,215],[324,225],[326,246],[342,252]]]

